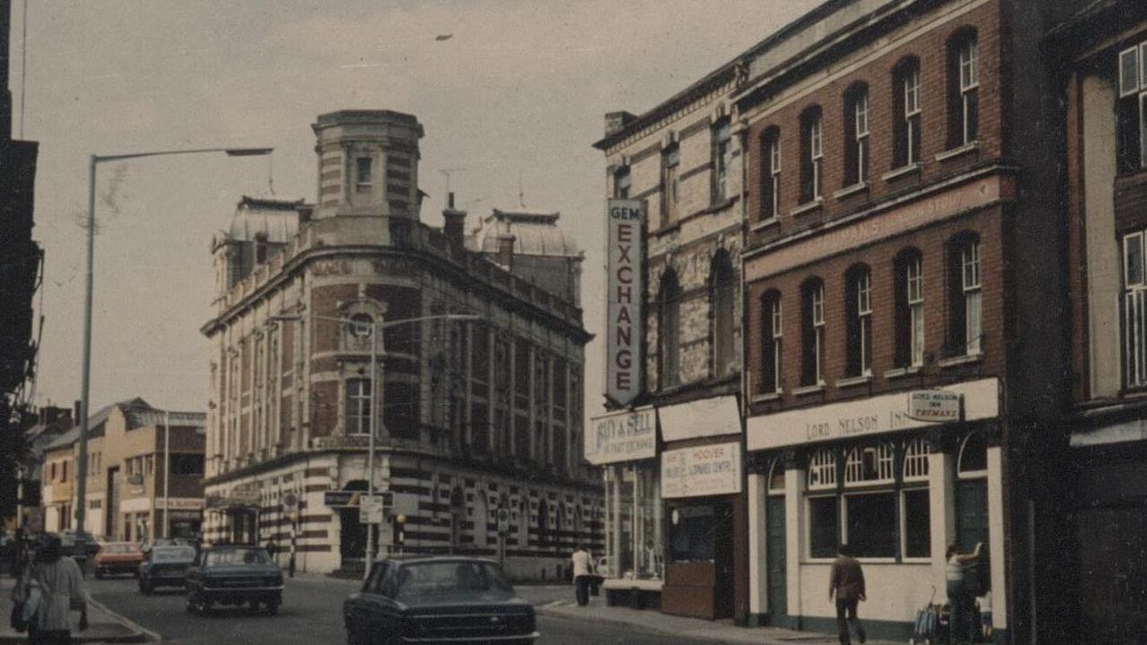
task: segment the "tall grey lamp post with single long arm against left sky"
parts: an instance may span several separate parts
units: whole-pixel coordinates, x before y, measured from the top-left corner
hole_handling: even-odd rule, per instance
[[[130,153],[125,155],[92,155],[87,178],[87,285],[84,290],[84,351],[80,370],[80,404],[79,404],[79,463],[76,465],[76,530],[84,531],[84,518],[87,513],[87,417],[88,384],[92,376],[92,288],[95,251],[95,166],[103,162],[117,162],[140,157],[161,157],[171,155],[195,155],[201,153],[226,153],[229,157],[250,157],[270,155],[274,148],[194,148],[186,150],[153,150],[148,153]]]

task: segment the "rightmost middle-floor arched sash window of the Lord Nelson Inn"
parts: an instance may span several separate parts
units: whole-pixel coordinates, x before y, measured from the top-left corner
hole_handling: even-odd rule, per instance
[[[980,240],[958,235],[949,243],[949,355],[981,352]]]

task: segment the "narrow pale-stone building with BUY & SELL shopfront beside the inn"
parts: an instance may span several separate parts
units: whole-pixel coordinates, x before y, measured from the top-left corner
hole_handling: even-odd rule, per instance
[[[741,71],[726,64],[640,116],[607,115],[594,143],[606,155],[606,196],[643,204],[634,238],[645,252],[631,259],[645,288],[633,295],[638,391],[627,402],[607,396],[611,412],[594,419],[586,453],[603,466],[609,599],[743,621],[743,156],[729,101]],[[622,427],[643,440],[611,430]],[[723,476],[688,475],[702,463]]]

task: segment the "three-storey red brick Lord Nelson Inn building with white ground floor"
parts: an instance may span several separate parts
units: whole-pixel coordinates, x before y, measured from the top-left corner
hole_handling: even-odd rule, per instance
[[[982,542],[994,640],[1035,638],[1068,382],[1039,47],[1070,5],[828,2],[743,57],[757,621],[834,631],[846,543],[869,635],[907,638],[946,545]]]

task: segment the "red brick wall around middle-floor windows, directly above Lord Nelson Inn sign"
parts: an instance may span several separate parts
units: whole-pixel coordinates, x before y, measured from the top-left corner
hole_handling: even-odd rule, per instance
[[[891,238],[853,252],[822,259],[812,265],[770,277],[748,286],[747,357],[749,396],[759,390],[760,343],[765,321],[762,320],[760,297],[770,289],[778,289],[782,301],[781,386],[785,390],[779,402],[754,405],[754,412],[775,411],[781,407],[820,404],[830,401],[881,394],[900,388],[920,388],[953,380],[1004,375],[1004,246],[1001,243],[1002,208],[993,207],[976,213],[953,218],[924,230]],[[945,243],[955,234],[970,231],[980,236],[980,274],[982,293],[983,359],[965,366],[941,367],[942,348],[947,328],[947,280]],[[924,366],[916,375],[885,379],[884,373],[895,365],[895,269],[894,258],[906,248],[915,248],[922,256],[924,293]],[[867,264],[872,275],[872,373],[869,386],[837,388],[835,382],[845,375],[845,297],[844,274],[857,263]],[[825,285],[825,350],[822,393],[796,397],[793,389],[801,386],[801,283],[818,277]],[[931,359],[929,360],[929,356]]]

